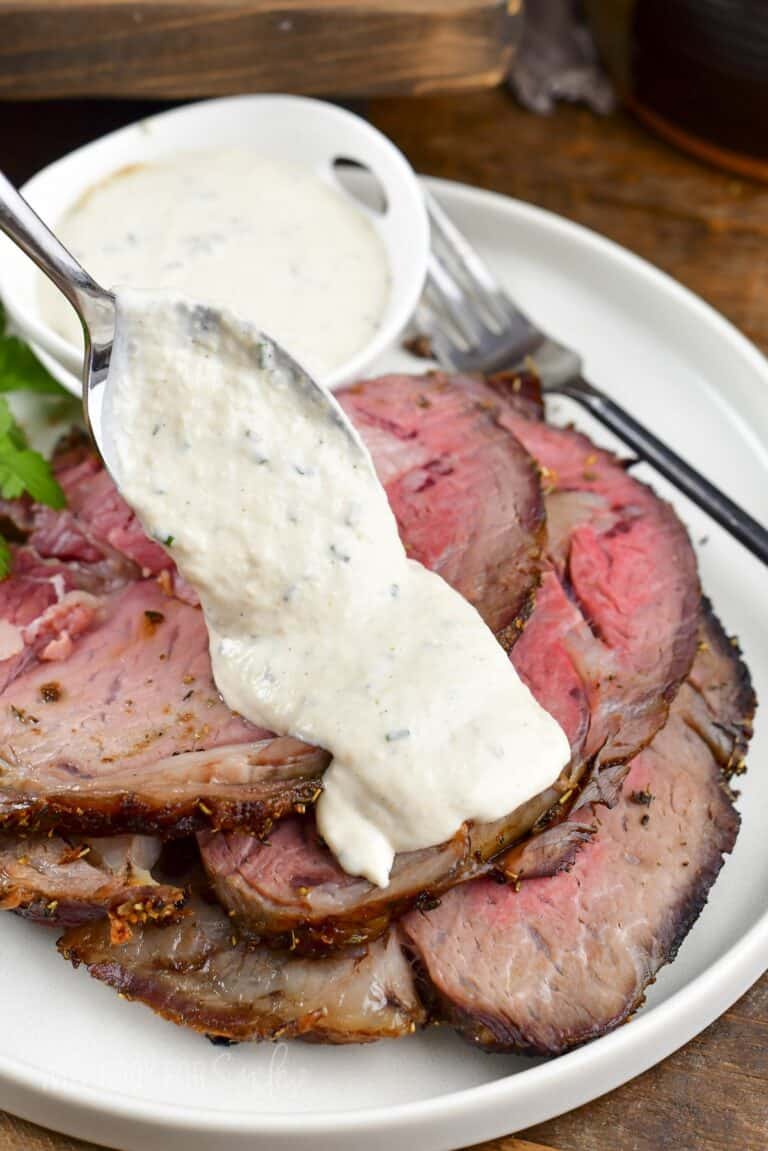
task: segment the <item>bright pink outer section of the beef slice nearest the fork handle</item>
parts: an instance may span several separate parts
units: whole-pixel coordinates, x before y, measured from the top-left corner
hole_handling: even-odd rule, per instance
[[[586,435],[524,419],[503,401],[499,411],[539,464],[549,551],[596,640],[570,650],[590,693],[586,754],[599,765],[626,761],[663,724],[693,660],[700,588],[687,532]]]

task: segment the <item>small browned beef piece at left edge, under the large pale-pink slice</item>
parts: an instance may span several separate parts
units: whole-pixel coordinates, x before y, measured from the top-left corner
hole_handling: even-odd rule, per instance
[[[181,887],[151,874],[160,844],[145,836],[94,843],[59,836],[0,837],[0,908],[39,923],[73,927],[107,916],[113,942],[138,923],[175,918]]]

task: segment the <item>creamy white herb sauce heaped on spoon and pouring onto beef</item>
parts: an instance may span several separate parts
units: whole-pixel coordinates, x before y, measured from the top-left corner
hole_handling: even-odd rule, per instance
[[[106,403],[120,489],[199,593],[225,700],[332,753],[318,825],[347,871],[386,886],[396,852],[557,778],[563,731],[406,558],[357,433],[267,338],[119,292]]]

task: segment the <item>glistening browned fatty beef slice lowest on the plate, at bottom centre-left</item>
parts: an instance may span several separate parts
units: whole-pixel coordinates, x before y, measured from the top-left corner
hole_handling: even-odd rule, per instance
[[[221,907],[196,899],[177,923],[136,928],[122,945],[96,922],[59,946],[128,999],[211,1037],[365,1043],[425,1019],[395,932],[362,954],[312,960],[249,947],[234,930]]]

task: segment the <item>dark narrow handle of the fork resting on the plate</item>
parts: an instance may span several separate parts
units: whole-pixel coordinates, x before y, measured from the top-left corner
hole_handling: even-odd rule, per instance
[[[552,388],[569,396],[586,407],[601,424],[615,432],[633,451],[652,464],[668,480],[683,491],[689,500],[730,532],[739,543],[768,564],[768,531],[753,519],[743,508],[706,480],[694,467],[662,443],[653,433],[630,416],[619,404],[583,379],[569,380]]]

